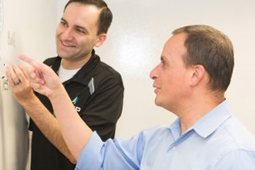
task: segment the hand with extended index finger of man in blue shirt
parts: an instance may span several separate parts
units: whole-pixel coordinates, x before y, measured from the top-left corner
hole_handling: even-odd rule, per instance
[[[57,89],[61,88],[62,83],[49,66],[25,55],[19,55],[19,58],[32,66],[26,68],[26,76],[35,91],[49,98],[57,95]]]

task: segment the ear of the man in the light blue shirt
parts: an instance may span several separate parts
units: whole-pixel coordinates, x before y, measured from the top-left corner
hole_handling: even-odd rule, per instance
[[[194,65],[192,66],[192,73],[191,73],[191,86],[198,85],[206,75],[206,70],[202,65]]]

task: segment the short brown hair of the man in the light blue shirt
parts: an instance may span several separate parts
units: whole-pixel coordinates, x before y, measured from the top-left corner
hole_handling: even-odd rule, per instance
[[[214,91],[226,91],[234,69],[234,50],[230,39],[208,25],[189,25],[173,31],[186,33],[183,56],[186,66],[201,64],[210,76],[209,87]]]

